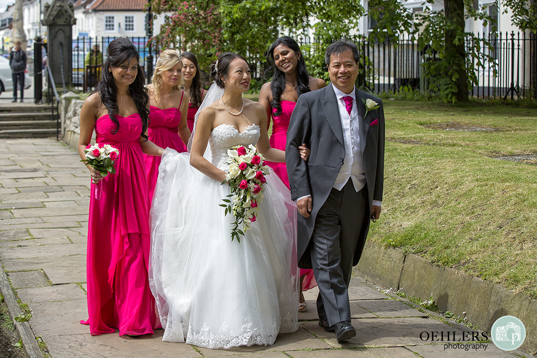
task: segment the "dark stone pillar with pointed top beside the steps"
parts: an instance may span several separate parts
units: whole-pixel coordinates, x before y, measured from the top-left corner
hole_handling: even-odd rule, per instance
[[[72,87],[72,25],[76,24],[72,3],[68,0],[46,3],[41,24],[48,27],[47,63],[56,88],[60,91],[64,85],[69,89]]]

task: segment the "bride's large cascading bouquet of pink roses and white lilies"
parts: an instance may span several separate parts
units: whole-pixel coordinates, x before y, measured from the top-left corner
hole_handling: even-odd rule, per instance
[[[233,213],[235,216],[231,241],[237,239],[241,242],[239,235],[244,235],[251,223],[256,221],[258,206],[265,197],[265,175],[269,168],[264,165],[263,155],[253,145],[233,147],[228,150],[228,156],[229,167],[222,184],[229,184],[231,194],[222,199],[226,204],[220,206],[226,208],[226,215]]]

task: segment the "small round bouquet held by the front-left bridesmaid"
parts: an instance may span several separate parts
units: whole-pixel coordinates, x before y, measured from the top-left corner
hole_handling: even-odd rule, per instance
[[[114,162],[119,158],[119,151],[110,144],[96,143],[95,145],[88,144],[84,149],[85,160],[81,160],[86,165],[90,165],[93,169],[98,170],[99,174],[106,177],[108,173],[115,174]],[[100,199],[103,192],[103,183],[95,184],[95,198]]]

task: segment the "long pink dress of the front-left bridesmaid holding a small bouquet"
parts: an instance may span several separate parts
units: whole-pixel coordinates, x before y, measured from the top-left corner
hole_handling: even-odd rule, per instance
[[[160,323],[149,288],[149,200],[140,146],[142,121],[138,113],[116,116],[119,130],[108,114],[95,122],[97,142],[119,149],[117,173],[109,174],[95,199],[91,184],[88,222],[88,279],[90,333],[98,335],[152,334]]]

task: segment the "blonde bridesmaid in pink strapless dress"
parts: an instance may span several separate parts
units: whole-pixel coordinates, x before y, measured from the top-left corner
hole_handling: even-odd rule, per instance
[[[157,60],[153,83],[149,89],[149,140],[162,148],[172,148],[177,152],[186,152],[190,130],[186,125],[188,95],[182,90],[183,62],[177,51],[166,49]],[[161,157],[144,154],[146,162],[149,201],[158,177]]]

